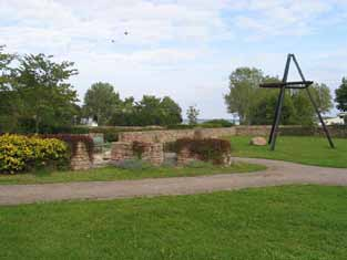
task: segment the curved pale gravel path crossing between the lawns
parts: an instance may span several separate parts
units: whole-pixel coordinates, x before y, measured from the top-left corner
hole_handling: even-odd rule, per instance
[[[249,174],[222,174],[198,177],[154,178],[119,181],[86,181],[43,185],[0,186],[0,205],[19,205],[70,199],[115,199],[140,196],[185,195],[289,184],[347,186],[347,169],[323,168],[294,163],[234,158],[266,165]]]

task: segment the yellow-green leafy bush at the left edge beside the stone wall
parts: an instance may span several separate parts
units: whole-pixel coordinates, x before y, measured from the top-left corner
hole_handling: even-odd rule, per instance
[[[0,173],[14,174],[37,167],[63,167],[69,163],[68,145],[55,138],[0,136]]]

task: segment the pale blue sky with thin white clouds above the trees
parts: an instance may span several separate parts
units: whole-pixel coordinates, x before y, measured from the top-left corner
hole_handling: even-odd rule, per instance
[[[169,95],[184,116],[196,105],[201,118],[229,118],[232,71],[282,76],[287,53],[334,96],[347,76],[347,0],[0,0],[2,44],[73,61],[81,101],[109,82],[122,97]]]

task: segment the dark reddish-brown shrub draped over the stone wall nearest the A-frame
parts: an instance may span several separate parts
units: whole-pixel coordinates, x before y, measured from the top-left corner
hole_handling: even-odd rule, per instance
[[[174,146],[176,153],[187,149],[198,159],[213,164],[223,164],[225,156],[232,152],[228,141],[217,138],[181,138],[175,142]]]

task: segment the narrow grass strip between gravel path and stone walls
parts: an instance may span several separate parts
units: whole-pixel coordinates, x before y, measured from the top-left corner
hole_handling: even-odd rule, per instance
[[[31,174],[0,175],[0,185],[164,178],[180,176],[249,173],[255,170],[262,170],[265,168],[266,167],[262,165],[239,163],[233,164],[229,167],[218,167],[210,164],[200,164],[195,167],[145,167],[140,169],[122,169],[110,166],[104,168],[78,171],[38,171]]]

